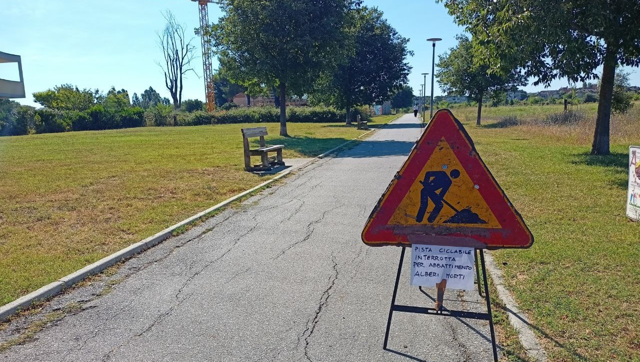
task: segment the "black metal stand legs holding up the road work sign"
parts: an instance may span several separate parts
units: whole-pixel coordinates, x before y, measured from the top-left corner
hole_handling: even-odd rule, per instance
[[[449,310],[444,308],[444,306],[440,310],[436,310],[435,308],[426,308],[426,307],[416,307],[416,306],[405,306],[401,304],[396,304],[396,295],[398,291],[398,283],[400,281],[400,274],[402,272],[402,264],[404,261],[404,251],[406,248],[402,248],[402,252],[400,253],[400,262],[398,263],[398,272],[396,275],[396,285],[394,286],[394,294],[391,297],[391,307],[389,308],[389,318],[387,320],[387,332],[385,333],[385,343],[383,344],[383,349],[387,349],[387,342],[389,340],[389,330],[391,328],[391,318],[394,315],[394,311],[404,311],[406,313],[419,313],[419,314],[429,314],[429,315],[442,315],[443,317],[456,317],[456,318],[466,318],[466,319],[480,319],[480,320],[488,320],[489,321],[489,329],[491,332],[491,344],[493,347],[493,361],[498,362],[498,349],[497,343],[495,341],[495,332],[493,331],[493,317],[491,314],[491,301],[489,299],[489,285],[486,280],[486,268],[484,267],[484,253],[482,249],[476,249],[476,276],[478,281],[478,294],[481,297],[484,297],[486,301],[486,310],[487,313],[477,313],[474,311],[460,311],[460,310]],[[483,274],[483,284],[484,284],[484,295],[482,294],[482,290],[480,288],[480,272],[478,268],[477,262],[477,254],[480,255],[480,264],[482,267]],[[422,287],[420,287],[422,290]]]

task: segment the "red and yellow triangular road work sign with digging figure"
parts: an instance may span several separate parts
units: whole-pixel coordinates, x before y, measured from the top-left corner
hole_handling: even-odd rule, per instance
[[[529,248],[533,235],[448,109],[431,118],[362,231],[369,246]]]

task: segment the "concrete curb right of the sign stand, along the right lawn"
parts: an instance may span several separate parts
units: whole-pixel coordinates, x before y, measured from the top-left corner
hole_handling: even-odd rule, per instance
[[[527,316],[522,313],[511,292],[504,287],[502,271],[497,267],[490,253],[484,253],[484,256],[489,275],[491,276],[493,285],[498,291],[498,297],[505,306],[505,311],[509,316],[509,323],[518,332],[518,338],[520,339],[520,343],[522,343],[522,347],[527,351],[529,357],[534,358],[538,362],[547,362],[547,354],[540,345],[540,342],[538,342],[536,334],[534,334],[531,327],[529,327],[530,323],[529,320],[527,320]]]

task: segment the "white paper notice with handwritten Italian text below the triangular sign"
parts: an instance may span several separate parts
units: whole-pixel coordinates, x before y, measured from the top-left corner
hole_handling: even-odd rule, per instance
[[[442,279],[447,289],[474,289],[474,248],[412,245],[411,285],[435,287]]]

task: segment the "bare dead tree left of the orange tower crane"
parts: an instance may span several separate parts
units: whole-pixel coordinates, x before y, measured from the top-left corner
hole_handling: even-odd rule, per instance
[[[163,51],[164,63],[157,63],[164,71],[164,85],[171,93],[173,99],[173,109],[178,109],[182,105],[182,78],[195,70],[189,65],[195,58],[196,47],[191,44],[193,38],[186,40],[186,31],[182,24],[179,24],[173,13],[168,11],[163,13],[166,19],[166,26],[162,33],[157,33],[158,45]]]

